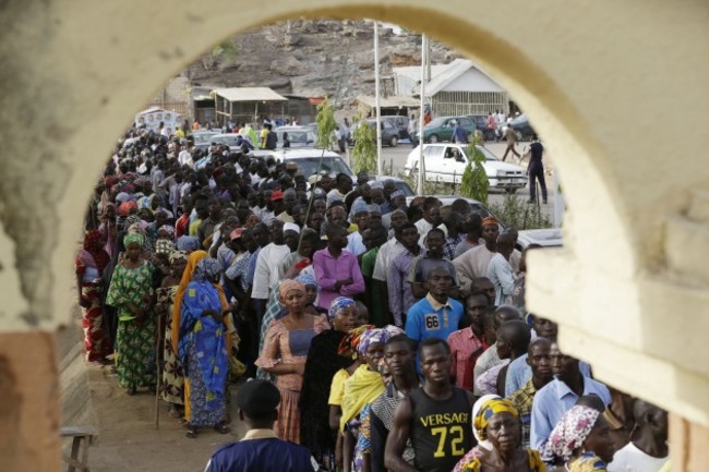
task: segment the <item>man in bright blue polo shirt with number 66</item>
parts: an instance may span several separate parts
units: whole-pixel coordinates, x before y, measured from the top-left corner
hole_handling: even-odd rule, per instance
[[[453,288],[453,276],[445,266],[434,266],[425,277],[429,293],[411,306],[406,317],[405,331],[418,347],[429,338],[444,341],[458,330],[462,318],[462,304],[448,296]],[[417,359],[417,371],[421,365]]]

